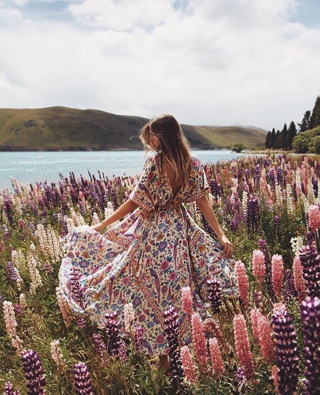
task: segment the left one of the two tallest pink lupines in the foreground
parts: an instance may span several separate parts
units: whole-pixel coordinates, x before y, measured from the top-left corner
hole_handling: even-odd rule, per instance
[[[203,322],[198,312],[192,313],[191,326],[192,326],[192,342],[193,342],[195,356],[197,358],[199,366],[202,368],[203,372],[206,373],[208,354],[206,351]]]

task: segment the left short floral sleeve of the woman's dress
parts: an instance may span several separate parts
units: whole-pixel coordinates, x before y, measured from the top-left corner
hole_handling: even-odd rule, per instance
[[[157,168],[154,156],[144,162],[141,176],[129,195],[129,199],[147,211],[155,208],[157,201]]]

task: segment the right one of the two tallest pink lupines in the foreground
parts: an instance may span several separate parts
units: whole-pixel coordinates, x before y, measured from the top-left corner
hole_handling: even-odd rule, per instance
[[[248,331],[245,325],[245,319],[242,314],[236,314],[233,317],[233,332],[236,354],[243,368],[245,377],[251,378],[254,374],[254,365],[250,352]]]

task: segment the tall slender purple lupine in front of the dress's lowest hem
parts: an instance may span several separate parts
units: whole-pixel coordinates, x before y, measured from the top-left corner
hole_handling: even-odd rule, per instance
[[[179,320],[175,307],[169,305],[169,307],[163,313],[163,318],[165,324],[164,334],[169,346],[168,355],[170,364],[172,366],[172,375],[181,385],[183,379],[183,369],[178,343]]]

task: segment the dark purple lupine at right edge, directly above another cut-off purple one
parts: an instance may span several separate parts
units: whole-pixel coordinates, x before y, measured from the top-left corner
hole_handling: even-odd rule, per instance
[[[313,246],[305,245],[299,248],[299,258],[303,267],[303,278],[308,296],[320,294],[320,256]]]

